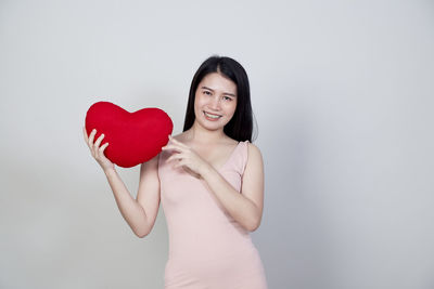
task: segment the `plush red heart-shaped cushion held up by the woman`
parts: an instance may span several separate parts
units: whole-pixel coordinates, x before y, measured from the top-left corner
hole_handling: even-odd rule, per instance
[[[86,114],[88,135],[97,129],[95,142],[102,133],[100,147],[108,143],[104,155],[113,163],[131,168],[148,161],[162,152],[174,129],[170,117],[159,108],[142,108],[129,113],[110,103],[92,104]]]

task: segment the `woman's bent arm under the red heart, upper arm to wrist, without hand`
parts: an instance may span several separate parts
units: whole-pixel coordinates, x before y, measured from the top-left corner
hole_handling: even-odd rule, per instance
[[[151,232],[158,212],[159,180],[157,175],[157,158],[158,155],[141,165],[137,199],[131,197],[116,170],[104,171],[120,214],[132,232],[140,238]]]

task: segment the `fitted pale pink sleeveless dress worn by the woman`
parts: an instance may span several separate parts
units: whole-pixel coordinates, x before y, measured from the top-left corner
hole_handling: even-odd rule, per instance
[[[238,191],[247,162],[240,142],[218,172]],[[244,229],[207,188],[158,156],[161,199],[169,234],[165,289],[266,289],[259,253]],[[242,192],[240,192],[242,194]]]

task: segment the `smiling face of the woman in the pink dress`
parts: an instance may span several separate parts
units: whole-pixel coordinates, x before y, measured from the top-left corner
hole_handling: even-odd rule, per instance
[[[206,75],[199,83],[194,114],[196,121],[208,129],[224,128],[237,108],[237,84],[217,73]]]

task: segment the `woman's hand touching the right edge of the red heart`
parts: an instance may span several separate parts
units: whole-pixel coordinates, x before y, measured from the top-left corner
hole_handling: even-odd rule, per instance
[[[174,169],[183,167],[187,171],[196,174],[196,178],[202,175],[203,170],[209,166],[207,161],[205,161],[201,156],[194,152],[190,146],[175,140],[171,135],[169,135],[169,143],[166,146],[163,146],[163,150],[174,149],[175,153],[166,160],[178,160],[174,165]]]

